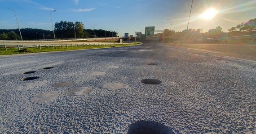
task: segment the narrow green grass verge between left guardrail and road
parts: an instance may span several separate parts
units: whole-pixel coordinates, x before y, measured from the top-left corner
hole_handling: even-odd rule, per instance
[[[19,50],[17,48],[7,48],[7,50],[4,49],[4,47],[0,47],[0,55],[9,55],[9,54],[28,54],[28,53],[40,53],[40,52],[51,52],[51,51],[65,51],[65,50],[83,50],[83,49],[95,49],[95,48],[107,48],[107,47],[118,47],[118,46],[133,46],[133,45],[139,45],[141,43],[132,43],[132,44],[115,44],[110,46],[57,46],[57,49],[53,46],[41,46],[41,50],[37,47],[27,47],[26,50]],[[26,45],[25,45],[26,46]]]

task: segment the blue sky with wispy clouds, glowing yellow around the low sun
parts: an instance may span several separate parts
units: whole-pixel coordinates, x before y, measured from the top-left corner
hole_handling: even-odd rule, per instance
[[[0,29],[17,29],[15,9],[20,28],[52,30],[60,21],[80,21],[85,29],[103,29],[134,35],[146,26],[155,30],[187,28],[192,0],[0,0]],[[201,14],[215,8],[210,20]],[[256,0],[193,0],[189,29],[203,32],[221,26],[227,32],[233,26],[256,18]]]

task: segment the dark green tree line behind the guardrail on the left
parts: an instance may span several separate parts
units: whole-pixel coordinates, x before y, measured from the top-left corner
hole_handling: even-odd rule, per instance
[[[76,21],[60,21],[56,22],[54,25],[54,33],[56,38],[93,38],[93,29],[85,29],[82,22]],[[105,31],[102,29],[95,29],[95,37],[103,38],[118,37],[118,33],[115,31]],[[25,28],[21,29],[23,40],[37,40],[37,39],[53,39],[52,30],[44,29],[31,29]],[[0,29],[0,40],[21,40],[20,33],[18,29]]]

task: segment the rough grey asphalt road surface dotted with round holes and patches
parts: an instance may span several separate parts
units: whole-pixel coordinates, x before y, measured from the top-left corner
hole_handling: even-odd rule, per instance
[[[255,133],[255,66],[150,42],[0,56],[0,133]]]

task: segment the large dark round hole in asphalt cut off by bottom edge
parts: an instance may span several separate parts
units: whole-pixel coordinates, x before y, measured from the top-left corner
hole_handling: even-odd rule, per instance
[[[137,121],[127,130],[127,134],[174,134],[171,129],[154,121]]]

